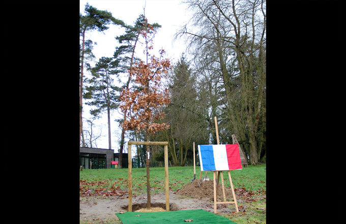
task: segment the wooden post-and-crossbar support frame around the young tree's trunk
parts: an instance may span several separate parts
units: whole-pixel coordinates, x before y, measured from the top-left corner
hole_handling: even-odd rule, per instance
[[[165,190],[166,190],[166,211],[169,211],[169,187],[168,187],[168,142],[128,142],[128,164],[129,164],[129,208],[128,211],[132,212],[132,158],[131,147],[132,145],[156,145],[164,146],[164,172],[165,172]]]

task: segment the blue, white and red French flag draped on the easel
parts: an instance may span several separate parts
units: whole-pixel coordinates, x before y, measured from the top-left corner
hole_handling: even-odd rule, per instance
[[[198,145],[201,171],[241,170],[238,144]]]

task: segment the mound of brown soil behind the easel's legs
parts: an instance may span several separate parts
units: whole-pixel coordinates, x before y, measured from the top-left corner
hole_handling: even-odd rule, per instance
[[[198,181],[199,179],[195,179],[192,183],[186,184],[176,194],[198,199],[214,199],[214,181],[200,181],[200,188],[198,186]],[[230,186],[225,185],[225,195],[226,200],[233,200]],[[223,199],[221,181],[219,182],[217,197]]]

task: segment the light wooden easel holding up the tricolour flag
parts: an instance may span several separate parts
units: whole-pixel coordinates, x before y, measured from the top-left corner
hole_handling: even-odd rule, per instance
[[[220,142],[219,142],[219,132],[217,130],[217,119],[216,119],[216,117],[214,117],[214,119],[215,119],[217,145],[220,145]],[[218,204],[235,204],[236,205],[236,210],[237,210],[237,213],[238,213],[239,209],[238,209],[236,194],[234,192],[232,178],[230,177],[229,170],[227,172],[228,172],[230,188],[232,188],[232,193],[233,193],[233,198],[234,198],[233,202],[227,202],[226,201],[225,186],[224,186],[224,182],[223,182],[223,173],[222,172],[223,171],[213,171],[213,177],[214,177],[214,213],[217,213],[217,205]],[[220,174],[221,174],[221,185],[222,185],[222,193],[223,193],[223,202],[217,202],[217,192],[218,192],[218,187],[219,187]],[[217,175],[217,179],[216,179],[216,175]]]

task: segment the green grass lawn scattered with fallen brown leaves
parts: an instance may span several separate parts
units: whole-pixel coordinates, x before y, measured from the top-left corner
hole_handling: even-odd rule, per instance
[[[256,166],[249,165],[242,170],[230,172],[235,188],[242,188],[253,192],[252,199],[238,199],[239,213],[230,213],[222,215],[238,223],[266,223],[266,164]],[[193,166],[174,166],[169,167],[169,187],[173,191],[182,188],[193,179]],[[199,178],[200,167],[196,166],[196,178]],[[203,176],[205,176],[203,172]],[[139,195],[147,192],[147,172],[146,168],[132,169],[132,193]],[[212,180],[213,173],[209,172],[208,177]],[[152,195],[157,192],[164,192],[164,167],[150,168],[150,186]],[[80,194],[89,190],[91,193],[97,193],[114,189],[116,192],[127,191],[128,187],[128,169],[101,169],[101,170],[83,170],[80,172]],[[85,183],[85,184],[83,184]],[[225,186],[229,186],[228,178],[225,178]],[[241,207],[242,206],[242,207]]]

